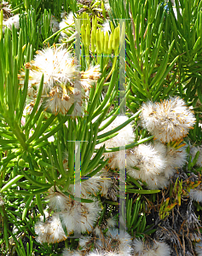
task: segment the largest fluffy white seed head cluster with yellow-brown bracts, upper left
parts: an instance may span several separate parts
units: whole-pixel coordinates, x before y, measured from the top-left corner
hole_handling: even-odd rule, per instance
[[[74,113],[81,113],[85,92],[90,90],[92,81],[100,76],[97,72],[99,67],[90,67],[90,72],[80,73],[75,60],[66,49],[48,48],[37,53],[34,61],[25,65],[30,69],[28,95],[32,105],[36,101],[43,75],[43,102],[40,102],[40,106],[43,104],[45,110],[51,113],[66,114],[75,103]],[[86,74],[88,72],[89,76]],[[20,78],[23,77],[24,73],[21,73]]]

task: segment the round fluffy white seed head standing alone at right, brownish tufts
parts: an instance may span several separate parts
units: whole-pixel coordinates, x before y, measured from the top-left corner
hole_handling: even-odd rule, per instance
[[[163,143],[187,136],[195,123],[193,113],[180,97],[144,103],[140,116],[144,128]]]

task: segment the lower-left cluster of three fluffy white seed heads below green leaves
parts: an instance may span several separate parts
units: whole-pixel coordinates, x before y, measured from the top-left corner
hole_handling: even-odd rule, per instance
[[[54,191],[53,188],[49,190],[48,198],[49,208],[55,212],[46,222],[39,221],[35,225],[37,240],[40,243],[55,243],[66,240],[67,236],[63,227],[66,228],[68,235],[77,230],[85,233],[93,229],[101,211],[98,201],[95,199],[92,203],[74,201],[63,194],[60,189]]]

